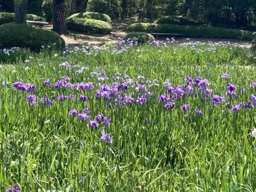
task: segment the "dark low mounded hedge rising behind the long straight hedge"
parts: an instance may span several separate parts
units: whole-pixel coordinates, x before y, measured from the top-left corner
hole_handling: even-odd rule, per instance
[[[157,20],[155,20],[155,23],[157,23],[157,24],[179,24],[179,25],[187,25],[187,26],[200,26],[203,24],[207,24],[207,23],[199,21],[199,20],[193,20],[188,17],[177,16],[177,15],[160,17]]]

